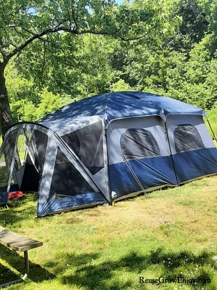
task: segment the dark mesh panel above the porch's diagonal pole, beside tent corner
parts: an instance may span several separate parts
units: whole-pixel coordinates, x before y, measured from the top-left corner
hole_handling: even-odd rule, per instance
[[[95,122],[61,138],[84,165],[95,174],[104,167],[102,121]]]

